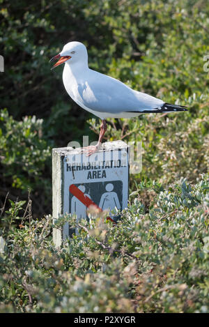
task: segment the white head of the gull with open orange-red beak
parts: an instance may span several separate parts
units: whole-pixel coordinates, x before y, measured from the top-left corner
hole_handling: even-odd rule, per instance
[[[65,44],[63,50],[59,54],[56,54],[56,56],[53,56],[50,61],[56,59],[59,60],[54,64],[52,69],[61,65],[61,63],[70,63],[70,65],[79,61],[88,63],[88,54],[83,43],[74,41]]]

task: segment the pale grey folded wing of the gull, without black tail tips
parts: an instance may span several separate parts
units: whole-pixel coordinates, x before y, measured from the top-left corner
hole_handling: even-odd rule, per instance
[[[92,71],[84,84],[78,85],[82,104],[97,112],[142,112],[157,109],[164,102],[160,99],[130,89],[122,82]]]

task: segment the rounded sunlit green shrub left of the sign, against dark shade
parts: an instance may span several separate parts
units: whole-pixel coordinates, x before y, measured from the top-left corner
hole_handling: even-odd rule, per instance
[[[8,111],[0,115],[0,151],[3,172],[12,176],[13,186],[25,190],[32,187],[44,172],[45,162],[51,156],[42,137],[42,119],[25,116],[15,121]]]

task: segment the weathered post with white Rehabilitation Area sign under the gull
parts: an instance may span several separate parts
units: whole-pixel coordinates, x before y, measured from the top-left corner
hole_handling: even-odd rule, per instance
[[[65,213],[86,218],[89,204],[115,211],[127,207],[129,162],[128,146],[115,141],[89,157],[81,148],[58,148],[52,151],[52,215],[54,222]],[[109,213],[114,220],[114,212]],[[69,225],[53,230],[56,247],[68,238]]]

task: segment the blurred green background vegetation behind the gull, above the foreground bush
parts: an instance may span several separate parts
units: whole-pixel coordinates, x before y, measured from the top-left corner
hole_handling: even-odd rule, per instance
[[[63,88],[63,66],[50,70],[49,59],[72,40],[88,47],[91,68],[189,107],[109,120],[108,139],[144,144],[143,172],[134,179],[194,181],[206,172],[208,10],[207,1],[1,1],[1,108],[10,116],[1,111],[1,205],[8,190],[23,199],[31,188],[33,213],[50,213],[52,147],[97,138],[86,123],[93,116]],[[99,121],[89,123],[98,132]]]

